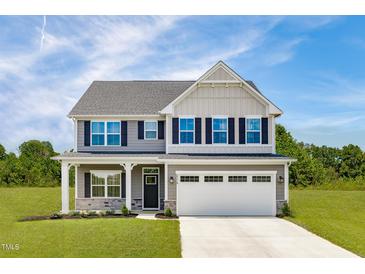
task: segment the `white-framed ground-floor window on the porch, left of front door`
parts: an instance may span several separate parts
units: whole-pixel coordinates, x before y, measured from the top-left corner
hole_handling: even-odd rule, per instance
[[[121,171],[91,171],[92,198],[120,198]]]

